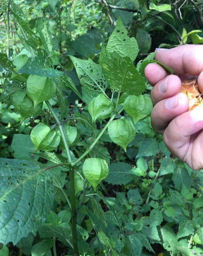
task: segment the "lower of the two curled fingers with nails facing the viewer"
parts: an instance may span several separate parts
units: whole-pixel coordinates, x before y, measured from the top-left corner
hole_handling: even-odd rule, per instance
[[[184,93],[178,93],[174,96],[177,99],[175,108],[167,108],[166,102],[168,99],[158,102],[151,112],[151,123],[154,130],[163,134],[168,124],[178,115],[186,112],[189,107],[188,97]]]

